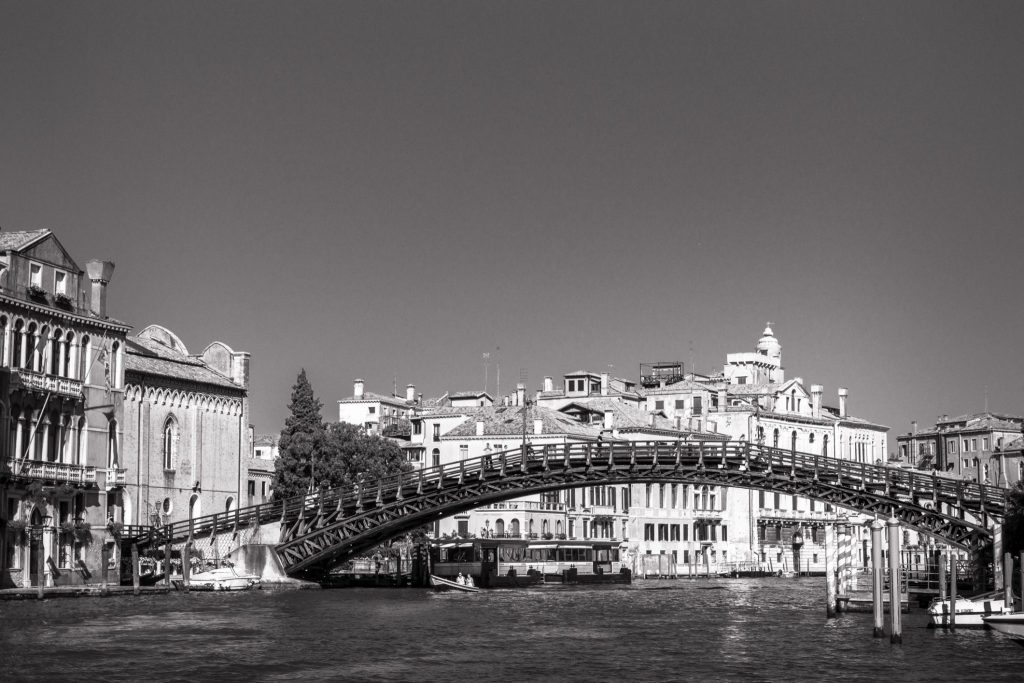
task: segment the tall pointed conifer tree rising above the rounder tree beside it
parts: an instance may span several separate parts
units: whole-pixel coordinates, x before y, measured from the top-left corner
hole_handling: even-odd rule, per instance
[[[281,430],[278,440],[281,455],[274,463],[275,499],[299,496],[309,488],[325,440],[321,408],[323,403],[313,394],[303,369],[292,387],[292,402],[288,407],[291,415],[285,420],[285,428]]]

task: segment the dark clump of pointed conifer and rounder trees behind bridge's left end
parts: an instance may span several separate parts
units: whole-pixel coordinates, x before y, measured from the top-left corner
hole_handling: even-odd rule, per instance
[[[351,485],[359,475],[372,481],[411,469],[393,441],[345,422],[325,424],[322,405],[303,370],[292,387],[291,415],[278,443],[281,456],[274,471],[275,498],[300,496],[322,486]]]

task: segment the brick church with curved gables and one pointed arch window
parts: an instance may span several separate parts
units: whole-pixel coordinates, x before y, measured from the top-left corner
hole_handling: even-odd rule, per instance
[[[249,353],[223,342],[191,354],[167,328],[127,340],[125,523],[162,524],[248,504]],[[120,520],[119,520],[120,521]]]

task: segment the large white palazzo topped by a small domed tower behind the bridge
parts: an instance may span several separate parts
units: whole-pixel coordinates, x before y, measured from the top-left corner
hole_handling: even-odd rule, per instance
[[[656,368],[654,368],[656,366]],[[849,391],[840,387],[839,405],[823,404],[823,387],[786,380],[782,346],[767,326],[750,352],[729,353],[722,372],[696,375],[667,369],[681,364],[653,364],[642,376],[648,411],[665,415],[692,429],[702,429],[733,440],[766,446],[821,454],[860,463],[886,460],[888,427],[849,413]],[[665,375],[676,381],[667,381]],[[809,499],[779,494],[730,489],[722,497],[727,509],[743,517],[748,545],[730,561],[771,564],[773,569],[796,570],[794,539],[803,541],[801,570],[821,571],[825,524],[850,521],[855,525],[857,559],[867,561],[864,531],[859,517]],[[742,511],[742,512],[739,512]],[[732,529],[729,528],[730,537]]]

